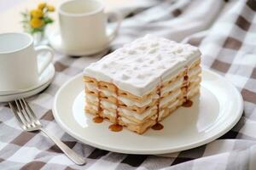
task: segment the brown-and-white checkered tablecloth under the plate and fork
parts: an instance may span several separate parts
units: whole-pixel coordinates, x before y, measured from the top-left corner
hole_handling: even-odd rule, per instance
[[[61,130],[51,108],[61,85],[99,57],[56,53],[54,81],[28,101],[44,127],[88,163],[76,166],[43,133],[22,131],[8,105],[1,104],[0,169],[256,169],[256,1],[150,1],[148,6],[122,11],[125,20],[112,49],[147,33],[199,46],[202,65],[226,77],[241,92],[241,120],[210,144],[165,156],[125,155],[81,144]]]

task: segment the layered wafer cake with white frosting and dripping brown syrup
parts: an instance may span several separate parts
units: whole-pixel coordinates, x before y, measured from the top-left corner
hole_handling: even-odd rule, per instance
[[[144,133],[200,91],[198,48],[147,35],[84,69],[85,112]]]

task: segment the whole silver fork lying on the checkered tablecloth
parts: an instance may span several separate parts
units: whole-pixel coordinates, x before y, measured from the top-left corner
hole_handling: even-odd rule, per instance
[[[49,134],[42,128],[42,124],[39,122],[37,116],[32,111],[25,99],[16,99],[14,102],[9,102],[11,110],[14,112],[15,117],[20,123],[20,127],[24,130],[31,131],[42,131],[49,139],[51,139],[69,159],[78,165],[84,165],[86,163],[84,157],[79,156],[76,152],[71,150],[66,144],[57,139],[54,135]]]

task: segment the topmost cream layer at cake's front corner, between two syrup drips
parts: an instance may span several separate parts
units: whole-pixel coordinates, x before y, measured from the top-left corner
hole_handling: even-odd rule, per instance
[[[158,98],[159,98],[159,95],[155,94],[155,95],[151,96],[150,98],[143,100],[143,102],[137,102],[137,101],[133,101],[131,99],[127,99],[123,96],[118,97],[118,99],[121,100],[125,105],[127,105],[127,106],[136,105],[137,107],[143,107],[145,105],[149,105],[153,101],[153,99],[158,99]]]

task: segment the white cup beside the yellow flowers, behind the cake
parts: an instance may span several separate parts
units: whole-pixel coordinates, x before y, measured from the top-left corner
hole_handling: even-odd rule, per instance
[[[71,54],[96,54],[108,47],[119,30],[122,20],[118,12],[104,13],[97,0],[71,0],[59,7],[62,46]],[[106,31],[108,16],[117,20],[111,33]]]

